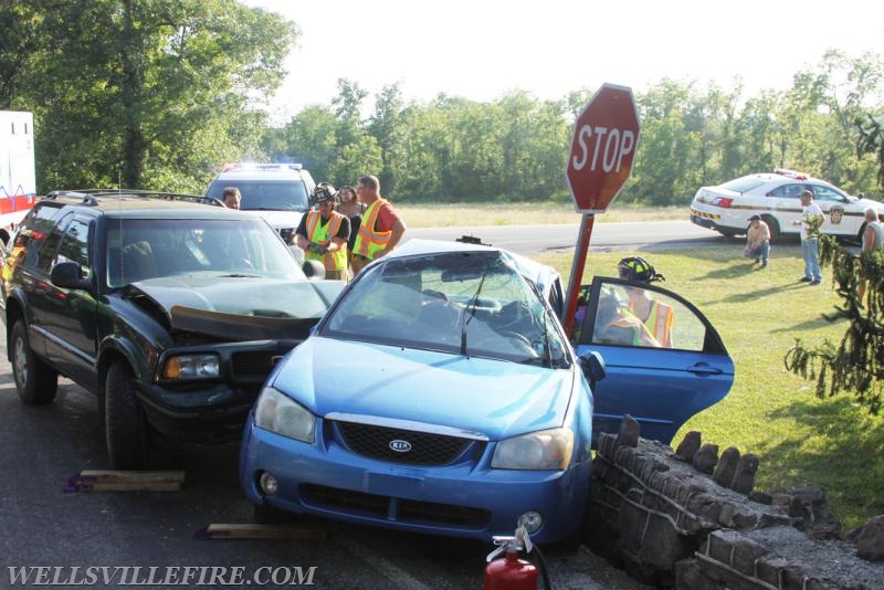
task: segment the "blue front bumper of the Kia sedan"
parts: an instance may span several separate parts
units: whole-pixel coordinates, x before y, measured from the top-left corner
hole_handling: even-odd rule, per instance
[[[303,443],[259,429],[250,417],[240,483],[252,503],[482,540],[512,535],[527,510],[544,518],[532,535],[537,542],[568,537],[581,521],[590,477],[588,456],[566,471],[493,470],[494,443],[475,442],[450,464],[404,465],[355,454],[322,420],[316,431],[317,442]],[[260,489],[264,472],[278,482],[273,496]]]

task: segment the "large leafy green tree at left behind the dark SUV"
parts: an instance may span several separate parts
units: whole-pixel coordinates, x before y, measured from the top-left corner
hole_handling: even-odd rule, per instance
[[[42,130],[44,187],[197,191],[221,162],[257,155],[255,107],[282,82],[293,23],[232,0],[38,7],[40,46],[19,75],[34,81],[20,99]]]

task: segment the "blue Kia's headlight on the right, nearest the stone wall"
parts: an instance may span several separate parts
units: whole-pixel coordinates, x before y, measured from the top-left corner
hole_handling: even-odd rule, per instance
[[[550,429],[497,443],[491,466],[496,470],[564,470],[571,462],[573,431]]]

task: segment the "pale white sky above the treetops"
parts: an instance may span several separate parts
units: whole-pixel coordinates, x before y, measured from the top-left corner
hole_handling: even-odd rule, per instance
[[[399,83],[407,99],[439,93],[492,101],[525,89],[538,98],[604,82],[643,91],[663,78],[785,89],[827,50],[884,51],[884,3],[842,0],[245,0],[301,29],[286,83],[271,102],[287,119],[327,104],[337,80],[376,94]],[[287,115],[287,116],[286,116]]]

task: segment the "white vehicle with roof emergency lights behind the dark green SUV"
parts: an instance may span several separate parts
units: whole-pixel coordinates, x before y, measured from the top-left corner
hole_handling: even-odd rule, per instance
[[[221,200],[228,187],[240,189],[241,210],[259,212],[287,244],[293,244],[301,218],[311,208],[316,182],[299,164],[229,164],[209,185],[206,197]]]

